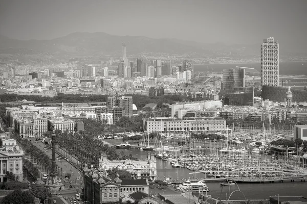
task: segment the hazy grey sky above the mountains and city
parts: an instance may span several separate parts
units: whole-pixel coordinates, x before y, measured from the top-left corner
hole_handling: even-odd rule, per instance
[[[242,44],[274,37],[307,46],[307,0],[0,0],[2,35],[74,32]]]

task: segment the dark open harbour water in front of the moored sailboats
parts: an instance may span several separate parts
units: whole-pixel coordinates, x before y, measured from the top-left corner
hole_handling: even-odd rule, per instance
[[[134,157],[145,160],[147,159],[147,151],[141,151],[139,149],[118,149],[118,152],[124,150],[126,155],[132,154]],[[153,152],[153,151],[152,151]],[[157,158],[157,173],[159,180],[165,180],[167,177],[171,179],[188,179],[190,178],[202,178],[203,173],[190,174],[193,171],[187,168],[174,168],[171,166],[170,162],[163,161]],[[213,198],[220,197],[221,199],[226,199],[230,192],[238,190],[236,186],[223,188],[218,184],[218,182],[207,182],[206,183]],[[307,181],[295,181],[295,182],[284,182],[284,183],[264,183],[264,184],[238,184],[240,191],[244,193],[247,199],[269,199],[269,196],[304,196],[307,197]],[[243,195],[236,192],[233,193],[231,199],[244,199]]]

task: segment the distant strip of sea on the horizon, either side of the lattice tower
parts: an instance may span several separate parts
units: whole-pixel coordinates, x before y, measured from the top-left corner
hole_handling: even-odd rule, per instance
[[[219,72],[223,69],[231,69],[236,66],[254,68],[261,71],[260,63],[243,63],[243,64],[195,64],[194,71],[213,71]],[[248,70],[255,72],[253,70]],[[280,75],[307,75],[307,62],[279,62]]]

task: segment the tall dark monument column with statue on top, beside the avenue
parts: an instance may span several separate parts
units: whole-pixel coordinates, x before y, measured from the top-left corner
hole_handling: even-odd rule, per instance
[[[51,144],[52,144],[52,169],[50,171],[50,179],[46,183],[46,187],[49,187],[51,190],[63,189],[64,185],[62,184],[60,178],[58,177],[56,163],[55,163],[55,148],[56,148],[56,138],[57,134],[54,131],[54,125],[52,125],[52,135],[51,135]],[[50,181],[51,180],[51,181]]]

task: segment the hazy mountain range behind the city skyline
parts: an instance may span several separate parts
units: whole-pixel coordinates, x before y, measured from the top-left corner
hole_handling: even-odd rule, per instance
[[[170,38],[116,36],[107,33],[72,33],[52,40],[16,40],[0,35],[0,54],[121,56],[122,42],[127,56],[150,53],[194,54],[196,56],[259,56],[260,44],[199,43]],[[289,50],[290,51],[290,50]],[[293,52],[283,50],[284,55]]]

